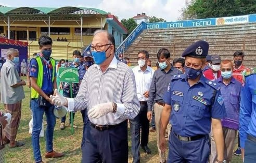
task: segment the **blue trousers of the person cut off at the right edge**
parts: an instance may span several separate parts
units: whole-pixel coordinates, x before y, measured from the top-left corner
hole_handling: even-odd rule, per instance
[[[255,160],[256,160],[256,138],[253,138],[252,136],[248,135],[245,143],[245,163],[253,163],[255,162]]]

